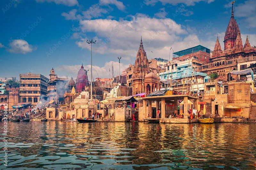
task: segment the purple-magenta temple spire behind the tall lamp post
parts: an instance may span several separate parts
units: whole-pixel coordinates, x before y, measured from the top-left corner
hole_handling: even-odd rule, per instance
[[[85,87],[89,86],[89,80],[87,76],[87,70],[84,70],[82,64],[81,69],[77,73],[76,77],[76,92],[82,92],[85,90]]]

